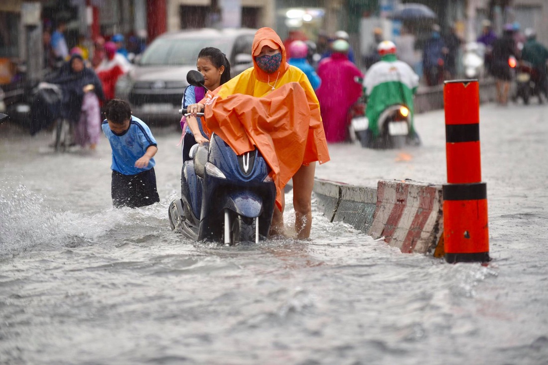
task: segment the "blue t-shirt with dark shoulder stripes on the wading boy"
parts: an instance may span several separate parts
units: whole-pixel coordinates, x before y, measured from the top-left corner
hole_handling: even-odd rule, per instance
[[[135,167],[135,162],[145,155],[147,148],[157,146],[149,126],[141,119],[132,116],[129,128],[121,135],[112,132],[106,119],[102,122],[101,128],[112,147],[112,165],[110,167],[112,170],[123,175],[136,175],[155,166],[156,162],[154,158],[151,158],[149,166]]]

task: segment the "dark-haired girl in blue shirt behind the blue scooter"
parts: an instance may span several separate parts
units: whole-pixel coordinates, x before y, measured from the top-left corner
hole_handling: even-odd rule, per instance
[[[215,47],[206,47],[198,53],[196,68],[204,77],[204,86],[209,91],[213,91],[220,85],[230,80],[230,62],[226,55],[220,49]],[[189,105],[196,104],[206,95],[206,89],[189,85],[186,87],[182,96],[182,109]],[[196,143],[202,144],[209,141],[208,135],[204,132],[202,123],[196,117],[182,117],[181,123],[184,136],[182,138],[182,161],[190,159],[190,149]]]

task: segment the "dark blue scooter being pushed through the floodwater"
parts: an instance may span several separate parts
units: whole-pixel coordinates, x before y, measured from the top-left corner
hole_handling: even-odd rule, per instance
[[[203,87],[198,71],[189,71],[186,77],[189,84]],[[180,112],[189,116],[186,110]],[[230,246],[268,237],[276,186],[259,150],[238,156],[213,134],[209,143],[194,145],[190,157],[182,167],[181,198],[169,205],[172,230],[195,241]]]

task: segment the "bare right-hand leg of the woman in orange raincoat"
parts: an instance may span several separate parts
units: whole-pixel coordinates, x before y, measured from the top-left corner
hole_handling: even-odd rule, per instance
[[[293,208],[295,209],[295,232],[297,238],[310,237],[312,228],[312,189],[316,162],[301,168],[293,175]]]

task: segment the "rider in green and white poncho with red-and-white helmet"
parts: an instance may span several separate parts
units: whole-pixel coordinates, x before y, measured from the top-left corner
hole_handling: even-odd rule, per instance
[[[389,106],[403,104],[411,115],[410,135],[418,139],[413,126],[413,95],[419,86],[419,76],[406,62],[396,58],[396,45],[391,41],[379,44],[381,57],[366,72],[363,87],[367,96],[366,116],[369,119],[368,138],[380,135],[378,119]]]

